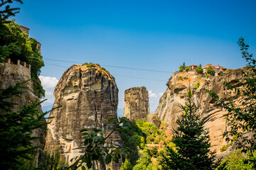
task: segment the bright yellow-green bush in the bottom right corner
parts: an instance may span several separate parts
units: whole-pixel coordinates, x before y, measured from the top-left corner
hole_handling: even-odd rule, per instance
[[[217,170],[252,170],[255,169],[256,152],[248,152],[245,157],[241,150],[236,150],[230,156],[225,158],[218,166]]]

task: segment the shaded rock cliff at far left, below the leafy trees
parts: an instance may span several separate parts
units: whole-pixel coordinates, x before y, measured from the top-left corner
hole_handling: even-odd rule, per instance
[[[11,102],[17,103],[14,106],[14,112],[20,111],[20,107],[23,105],[29,105],[31,103],[38,103],[40,98],[38,98],[33,92],[33,82],[28,81],[31,79],[31,70],[27,67],[24,67],[21,64],[11,64],[4,63],[0,64],[0,89],[6,89],[8,86],[15,86],[16,83],[23,83],[23,86],[26,86],[26,89],[22,89],[23,94],[21,97],[14,96],[11,99]],[[38,106],[38,110],[42,112],[41,106]],[[33,147],[39,147],[38,151],[44,148],[46,143],[46,130],[36,129],[33,130],[33,137],[41,137],[39,139],[33,140]],[[35,162],[38,162],[39,154],[36,154]]]

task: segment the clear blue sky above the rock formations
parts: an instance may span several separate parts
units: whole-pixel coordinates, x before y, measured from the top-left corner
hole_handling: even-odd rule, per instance
[[[46,59],[175,72],[183,62],[220,64],[231,69],[245,66],[236,43],[241,36],[250,45],[250,52],[256,52],[255,0],[24,0],[18,6],[21,13],[15,17],[16,23],[31,28],[30,36],[42,43]],[[41,76],[53,82],[60,79],[64,67],[75,64],[45,63]],[[151,91],[151,112],[171,77],[171,73],[106,69],[116,78],[119,108],[124,107],[125,89],[146,86]],[[47,91],[51,98],[53,87]],[[50,107],[50,103],[45,106]]]

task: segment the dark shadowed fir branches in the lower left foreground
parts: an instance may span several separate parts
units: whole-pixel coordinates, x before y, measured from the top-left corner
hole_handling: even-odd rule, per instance
[[[16,84],[0,89],[1,169],[18,169],[24,161],[31,159],[37,148],[32,146],[32,141],[40,138],[33,137],[32,132],[37,128],[46,129],[44,115],[49,112],[41,113],[37,109],[43,101],[12,111],[16,103],[9,100],[22,94],[20,89],[23,88],[22,84]]]

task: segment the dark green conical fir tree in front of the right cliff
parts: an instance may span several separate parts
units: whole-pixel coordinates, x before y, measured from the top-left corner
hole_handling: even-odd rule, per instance
[[[210,135],[204,130],[205,123],[201,114],[196,113],[198,106],[193,103],[193,92],[188,89],[187,102],[181,106],[184,114],[176,121],[172,142],[176,151],[167,146],[161,152],[161,169],[214,169],[215,152],[210,152]]]

